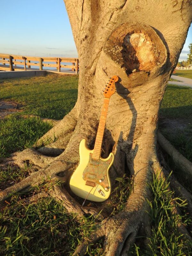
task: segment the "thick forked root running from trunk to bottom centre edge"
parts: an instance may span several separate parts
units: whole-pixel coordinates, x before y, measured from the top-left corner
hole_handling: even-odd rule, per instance
[[[143,180],[143,175],[148,172],[148,167],[145,166],[140,173],[137,173],[135,186],[127,199],[125,209],[98,224],[96,231],[92,232],[89,238],[77,247],[73,255],[84,255],[89,244],[95,244],[103,237],[105,237],[105,256],[126,254],[134,242],[140,226],[145,225],[143,220],[148,209],[145,198],[150,197],[150,191],[147,183]]]

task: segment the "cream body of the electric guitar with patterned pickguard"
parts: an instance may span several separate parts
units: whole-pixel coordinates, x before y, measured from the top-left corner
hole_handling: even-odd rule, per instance
[[[110,196],[110,193],[111,193],[109,169],[113,164],[114,155],[113,153],[110,153],[108,158],[100,157],[100,159],[98,159],[97,162],[93,160],[94,162],[90,163],[92,154],[93,154],[93,150],[90,150],[89,148],[87,148],[86,140],[83,139],[79,145],[80,162],[76,171],[71,176],[70,188],[76,195],[82,198],[87,197],[88,200],[91,200],[94,202],[102,202],[102,201],[105,201]],[[93,179],[96,178],[94,179],[95,180],[94,187],[86,185],[87,181],[83,179],[83,176],[84,176],[83,172],[86,171],[87,166],[89,166],[90,168],[85,173],[85,177],[87,178],[88,182],[92,182]],[[100,171],[100,169],[102,170]],[[99,171],[95,172],[95,170],[99,170]],[[108,181],[108,184],[107,182],[105,183],[106,180]],[[101,184],[102,185],[107,184],[107,185],[105,188],[103,188]],[[90,192],[91,189],[92,191]]]

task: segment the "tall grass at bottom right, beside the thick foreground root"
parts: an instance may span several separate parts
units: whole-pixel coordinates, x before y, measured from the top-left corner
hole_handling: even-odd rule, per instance
[[[154,196],[148,201],[151,218],[152,236],[149,238],[148,248],[140,249],[136,243],[132,248],[132,255],[137,256],[184,256],[192,255],[192,244],[179,233],[177,223],[183,222],[185,226],[191,224],[192,219],[186,214],[172,215],[173,207],[179,206],[185,212],[186,202],[181,198],[172,200],[173,192],[168,189],[168,179],[160,175],[153,176],[149,188]],[[182,219],[183,218],[183,219]]]

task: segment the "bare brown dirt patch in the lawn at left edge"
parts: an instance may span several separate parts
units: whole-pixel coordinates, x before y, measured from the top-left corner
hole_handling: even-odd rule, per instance
[[[21,104],[17,104],[13,101],[0,101],[0,119],[15,112],[23,111],[20,107]]]

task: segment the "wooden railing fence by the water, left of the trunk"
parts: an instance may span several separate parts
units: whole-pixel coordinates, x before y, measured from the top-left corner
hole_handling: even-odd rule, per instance
[[[66,65],[64,63],[72,63]],[[69,68],[78,74],[79,60],[75,58],[55,58],[55,57],[29,57],[20,55],[7,55],[0,53],[0,70],[30,70],[35,67],[43,70],[43,67],[51,67],[61,72],[61,68]],[[46,69],[45,69],[46,70]]]

